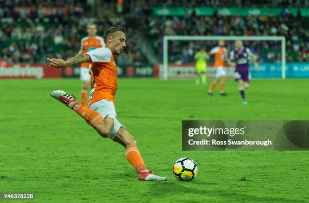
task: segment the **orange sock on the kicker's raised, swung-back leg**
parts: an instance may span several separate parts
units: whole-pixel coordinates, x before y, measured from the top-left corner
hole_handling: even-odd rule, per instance
[[[78,102],[75,102],[72,105],[71,109],[78,113],[81,117],[83,117],[86,122],[92,127],[95,127],[97,124],[99,124],[99,122],[104,119],[103,116],[98,112],[89,109],[88,107],[85,107],[83,105],[80,105]]]

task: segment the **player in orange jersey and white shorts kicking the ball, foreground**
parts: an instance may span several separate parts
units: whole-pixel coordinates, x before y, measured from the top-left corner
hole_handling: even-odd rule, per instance
[[[59,100],[91,125],[103,138],[111,138],[125,147],[125,156],[139,174],[139,180],[166,180],[149,171],[140,155],[133,136],[118,119],[115,110],[117,90],[117,67],[114,55],[120,54],[126,47],[124,27],[110,27],[104,32],[106,47],[97,48],[87,53],[64,61],[61,58],[47,58],[49,66],[68,67],[84,62],[91,66],[91,93],[88,107],[80,105],[75,97],[62,90],[54,90],[50,95]]]

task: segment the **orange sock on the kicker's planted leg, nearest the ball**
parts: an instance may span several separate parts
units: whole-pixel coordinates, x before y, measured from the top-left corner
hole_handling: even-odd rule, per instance
[[[126,149],[126,158],[130,164],[136,169],[137,173],[146,170],[143,158],[140,156],[139,150],[135,147]]]

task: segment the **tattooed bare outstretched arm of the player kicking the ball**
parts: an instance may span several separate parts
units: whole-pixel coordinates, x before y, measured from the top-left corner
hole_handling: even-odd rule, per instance
[[[77,65],[84,62],[91,62],[91,58],[88,54],[77,55],[66,61],[62,58],[47,58],[47,60],[49,66],[54,66],[58,68],[69,67],[71,65]]]

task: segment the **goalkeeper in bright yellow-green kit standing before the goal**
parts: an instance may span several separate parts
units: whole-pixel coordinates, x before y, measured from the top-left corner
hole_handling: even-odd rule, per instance
[[[200,79],[202,84],[206,84],[206,61],[209,59],[209,54],[206,52],[205,48],[202,47],[200,51],[195,53],[194,59],[196,60],[196,85],[200,83]]]

